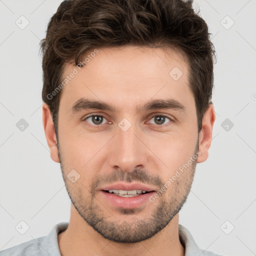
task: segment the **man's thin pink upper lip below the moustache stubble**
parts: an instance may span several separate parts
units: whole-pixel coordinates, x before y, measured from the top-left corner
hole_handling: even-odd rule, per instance
[[[110,189],[116,189],[116,190],[145,190],[145,191],[155,191],[157,188],[150,187],[146,184],[141,183],[114,183],[106,186],[102,186],[99,190],[110,190]]]

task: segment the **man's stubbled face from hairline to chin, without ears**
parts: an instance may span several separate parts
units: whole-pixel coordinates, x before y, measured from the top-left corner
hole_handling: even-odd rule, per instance
[[[198,131],[188,65],[174,50],[125,46],[98,48],[80,70],[66,65],[63,76],[74,67],[78,72],[63,88],[58,115],[58,155],[70,199],[107,239],[149,238],[179,211],[193,179]],[[76,104],[81,98],[115,111],[84,109]],[[142,108],[170,99],[170,108]],[[153,191],[132,197],[103,191],[117,183]]]

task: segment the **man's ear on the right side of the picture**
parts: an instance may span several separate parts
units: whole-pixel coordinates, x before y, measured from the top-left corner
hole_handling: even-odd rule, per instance
[[[202,128],[199,134],[198,151],[201,154],[197,157],[197,163],[203,162],[208,158],[208,150],[212,140],[212,129],[215,121],[214,106],[209,104],[202,118]]]

